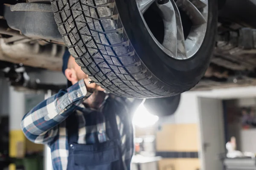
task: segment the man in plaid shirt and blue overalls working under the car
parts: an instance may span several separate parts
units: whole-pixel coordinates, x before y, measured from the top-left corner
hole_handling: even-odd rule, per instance
[[[70,87],[29,111],[23,133],[51,148],[54,170],[129,170],[134,104],[92,82],[68,51],[62,71]]]

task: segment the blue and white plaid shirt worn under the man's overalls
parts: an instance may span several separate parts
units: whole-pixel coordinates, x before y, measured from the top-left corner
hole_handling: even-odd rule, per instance
[[[105,122],[104,113],[103,117],[93,117],[93,114],[85,117],[83,114],[84,109],[87,109],[82,104],[86,95],[84,80],[80,80],[67,90],[61,90],[38,104],[22,119],[21,128],[25,136],[34,143],[47,144],[51,148],[54,170],[67,169],[69,147],[65,119],[70,114],[76,114],[79,122],[79,144],[95,144],[96,141],[108,140],[106,131],[110,130],[110,126]],[[122,158],[125,161],[133,154],[133,147],[125,147],[126,143],[133,140],[131,113],[129,113],[131,102],[118,96],[114,96],[114,99],[122,112],[116,114],[116,122],[122,141]],[[125,169],[128,169],[127,167]]]

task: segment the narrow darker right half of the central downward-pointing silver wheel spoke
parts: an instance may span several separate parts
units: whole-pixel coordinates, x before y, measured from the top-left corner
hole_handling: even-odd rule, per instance
[[[177,25],[177,53],[179,57],[186,59],[185,38],[183,33],[183,26],[181,23],[180,12],[175,2],[173,0],[171,0],[171,2],[175,11],[176,25]]]

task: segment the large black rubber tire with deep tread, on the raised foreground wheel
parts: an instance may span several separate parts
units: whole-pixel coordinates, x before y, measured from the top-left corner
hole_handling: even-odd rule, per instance
[[[217,27],[209,0],[201,48],[186,60],[164,53],[145,31],[135,0],[51,0],[58,29],[84,73],[107,91],[132,98],[166,97],[194,87],[206,71]]]

